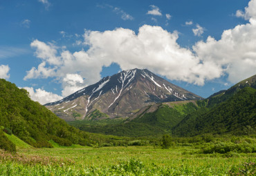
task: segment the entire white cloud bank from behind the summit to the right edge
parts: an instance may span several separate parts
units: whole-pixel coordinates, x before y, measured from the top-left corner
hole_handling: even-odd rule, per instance
[[[249,23],[225,30],[219,41],[208,37],[191,49],[179,46],[179,32],[148,25],[141,26],[138,34],[125,28],[86,30],[86,51],[60,50],[52,43],[35,40],[31,46],[42,62],[27,72],[26,79],[53,77],[62,83],[62,96],[66,96],[99,81],[102,67],[117,63],[122,70],[147,68],[190,84],[203,85],[223,75],[235,83],[256,73],[256,20],[249,14]]]

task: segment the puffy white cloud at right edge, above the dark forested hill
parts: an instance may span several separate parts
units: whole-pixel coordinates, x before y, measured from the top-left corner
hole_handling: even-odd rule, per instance
[[[256,23],[247,23],[225,30],[219,41],[212,37],[205,42],[199,41],[193,49],[199,58],[213,61],[221,72],[228,74],[228,80],[235,83],[255,75],[255,46]]]

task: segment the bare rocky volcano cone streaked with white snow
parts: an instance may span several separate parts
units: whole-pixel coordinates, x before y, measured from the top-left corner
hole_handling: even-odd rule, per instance
[[[133,69],[104,77],[98,83],[45,106],[66,121],[130,117],[145,106],[168,101],[203,99],[149,70]]]

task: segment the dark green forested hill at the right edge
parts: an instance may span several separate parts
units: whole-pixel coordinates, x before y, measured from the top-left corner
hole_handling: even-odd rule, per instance
[[[217,98],[215,98],[217,100]],[[245,87],[230,99],[211,108],[207,113],[196,111],[173,129],[174,135],[192,136],[203,133],[255,134],[256,89]]]

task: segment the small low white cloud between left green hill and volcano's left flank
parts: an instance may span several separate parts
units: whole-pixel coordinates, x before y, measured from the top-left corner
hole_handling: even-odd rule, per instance
[[[37,88],[34,90],[32,87],[24,87],[29,92],[30,99],[33,101],[38,101],[39,104],[47,104],[53,101],[59,101],[60,99],[63,99],[63,97],[54,94],[52,92],[46,92],[46,90]]]

